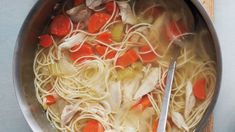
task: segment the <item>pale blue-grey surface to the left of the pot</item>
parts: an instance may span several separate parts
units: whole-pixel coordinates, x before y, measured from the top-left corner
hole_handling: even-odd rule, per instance
[[[12,82],[12,57],[19,29],[34,0],[0,0],[0,131],[27,132]]]

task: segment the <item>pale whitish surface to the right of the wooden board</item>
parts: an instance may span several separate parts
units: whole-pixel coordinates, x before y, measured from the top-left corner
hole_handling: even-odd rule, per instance
[[[220,39],[223,76],[215,107],[215,132],[235,132],[235,1],[215,0],[215,27]]]

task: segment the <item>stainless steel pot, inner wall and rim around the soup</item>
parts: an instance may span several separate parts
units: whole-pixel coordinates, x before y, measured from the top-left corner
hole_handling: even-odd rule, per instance
[[[13,77],[17,99],[22,113],[33,131],[55,131],[46,118],[46,114],[38,103],[34,89],[33,59],[37,48],[37,36],[41,34],[44,25],[48,22],[53,7],[59,0],[39,0],[31,9],[29,15],[19,32],[14,51]],[[221,81],[222,61],[218,38],[213,24],[206,11],[198,0],[185,0],[190,9],[197,14],[197,19],[209,30],[212,47],[216,53],[217,81],[215,93],[210,106],[203,119],[198,124],[196,131],[201,131],[216,103]]]

